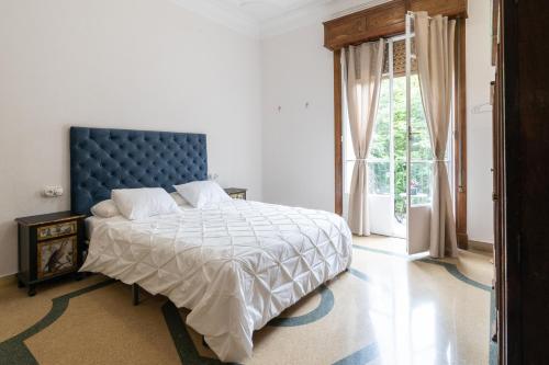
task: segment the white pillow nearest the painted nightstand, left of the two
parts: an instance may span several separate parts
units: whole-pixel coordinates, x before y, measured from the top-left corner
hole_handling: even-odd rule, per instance
[[[181,212],[177,203],[161,187],[115,189],[111,198],[127,219],[144,219],[160,214]]]

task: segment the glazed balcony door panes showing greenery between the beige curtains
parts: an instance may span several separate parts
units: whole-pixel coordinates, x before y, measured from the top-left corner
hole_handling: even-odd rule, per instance
[[[433,150],[428,126],[425,121],[419,79],[416,73],[415,62],[413,62],[413,73],[410,80],[410,164],[407,163],[405,42],[402,36],[400,41],[395,38],[389,39],[385,46],[385,72],[381,83],[378,114],[370,142],[368,176],[370,195],[391,197],[394,219],[402,225],[406,219],[408,167],[411,204],[423,205],[432,202]],[[344,115],[347,115],[346,111]],[[345,205],[350,190],[355,153],[349,123],[345,118],[344,126]],[[451,142],[448,146],[451,148]],[[447,151],[447,156],[451,156],[450,150]],[[448,171],[451,173],[449,162]],[[346,209],[344,212],[346,213]]]

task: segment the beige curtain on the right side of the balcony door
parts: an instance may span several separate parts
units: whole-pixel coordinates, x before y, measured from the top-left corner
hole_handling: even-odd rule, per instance
[[[455,84],[456,21],[426,12],[415,14],[417,72],[433,148],[433,206],[429,254],[458,253],[453,204],[445,161]]]

